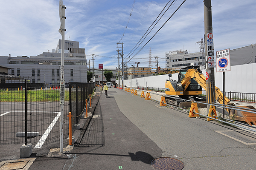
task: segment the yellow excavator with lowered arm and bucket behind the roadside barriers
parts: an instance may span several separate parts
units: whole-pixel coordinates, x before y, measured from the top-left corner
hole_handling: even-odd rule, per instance
[[[172,75],[169,74],[170,79],[166,80],[166,95],[179,96],[179,98],[172,98],[165,96],[166,102],[171,105],[178,105],[180,102],[183,102],[183,99],[194,98],[195,101],[206,101],[206,98],[200,96],[202,94],[202,88],[207,89],[206,79],[204,74],[198,66],[188,66],[182,68],[179,71],[178,81],[171,80]],[[218,87],[215,86],[215,99],[222,104],[223,103],[223,94]],[[230,100],[224,96],[225,105],[235,106]],[[239,106],[241,109],[256,109],[253,106]],[[246,110],[236,111],[233,109],[226,109],[229,112],[229,115],[232,116],[235,120],[247,122],[249,125],[256,125],[256,114],[249,113]]]

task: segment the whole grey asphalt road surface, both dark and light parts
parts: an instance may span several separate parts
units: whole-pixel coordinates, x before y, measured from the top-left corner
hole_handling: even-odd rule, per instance
[[[79,147],[36,156],[29,170],[154,170],[171,157],[183,170],[255,170],[256,136],[234,127],[189,118],[188,113],[124,90],[102,93]]]

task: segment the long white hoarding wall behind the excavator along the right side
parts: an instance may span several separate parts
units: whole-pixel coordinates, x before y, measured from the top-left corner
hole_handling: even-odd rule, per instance
[[[205,70],[202,70],[205,75]],[[154,87],[165,88],[165,81],[169,80],[168,74],[160,76],[142,77],[124,80],[127,87]],[[172,74],[173,80],[178,79],[178,74]],[[118,80],[116,81],[118,83]],[[122,84],[122,83],[121,83]],[[215,86],[223,89],[223,73],[215,70]],[[256,93],[256,63],[231,66],[231,71],[225,73],[225,91]]]

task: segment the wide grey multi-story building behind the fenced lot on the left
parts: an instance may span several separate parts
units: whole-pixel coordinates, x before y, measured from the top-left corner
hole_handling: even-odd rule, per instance
[[[87,60],[84,48],[79,42],[65,40],[64,48],[65,82],[87,82]],[[61,40],[56,50],[38,56],[0,56],[0,63],[11,68],[8,73],[18,77],[29,77],[33,83],[59,83],[61,66]]]

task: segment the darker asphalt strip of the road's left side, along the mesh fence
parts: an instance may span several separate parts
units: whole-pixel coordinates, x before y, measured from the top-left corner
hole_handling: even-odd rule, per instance
[[[73,150],[37,157],[29,170],[154,170],[151,161],[162,150],[122,114],[111,93],[116,92],[109,91],[108,98],[102,93],[98,104],[92,102],[90,124],[82,128],[87,130]]]

